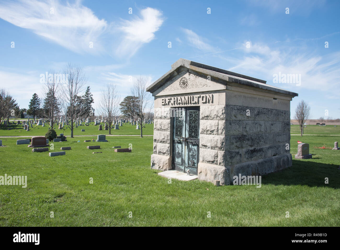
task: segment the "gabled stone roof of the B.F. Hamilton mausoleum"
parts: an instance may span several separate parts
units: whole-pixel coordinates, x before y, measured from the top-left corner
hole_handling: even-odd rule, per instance
[[[197,63],[195,61],[190,61],[190,60],[183,59],[183,58],[180,58],[174,64],[172,64],[171,65],[172,69],[169,70],[167,73],[165,73],[158,80],[156,80],[149,87],[147,87],[146,90],[148,92],[153,93],[155,90],[160,88],[163,84],[165,84],[167,81],[169,81],[171,78],[176,76],[179,72],[181,72],[183,70],[183,69],[180,69],[181,67],[190,69],[192,71],[196,71],[201,74],[210,75],[211,77],[221,79],[223,80],[222,83],[225,85],[227,85],[227,83],[229,82],[229,83],[236,83],[236,84],[241,84],[245,86],[255,87],[255,88],[259,88],[263,90],[274,91],[277,93],[287,94],[291,97],[298,95],[297,93],[268,85],[266,84],[266,81],[261,80],[261,79],[238,74],[238,73],[231,72],[231,71],[224,70],[224,69],[219,69],[216,67]]]

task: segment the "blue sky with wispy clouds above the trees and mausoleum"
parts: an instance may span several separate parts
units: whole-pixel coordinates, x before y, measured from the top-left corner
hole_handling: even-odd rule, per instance
[[[129,76],[153,82],[185,58],[299,93],[291,117],[304,99],[312,119],[340,118],[339,10],[339,1],[0,1],[0,87],[27,108],[40,74],[70,62],[95,101],[106,83],[124,97]],[[301,84],[273,83],[279,72]]]

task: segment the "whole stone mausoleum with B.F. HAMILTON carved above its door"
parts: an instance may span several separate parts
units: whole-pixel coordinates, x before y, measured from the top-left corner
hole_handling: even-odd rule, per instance
[[[147,88],[154,96],[151,168],[228,185],[233,176],[291,166],[290,101],[266,81],[179,59]]]

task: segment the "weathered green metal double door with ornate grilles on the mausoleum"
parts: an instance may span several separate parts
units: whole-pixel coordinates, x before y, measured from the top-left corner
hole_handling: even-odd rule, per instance
[[[178,108],[173,112],[172,168],[197,175],[200,148],[200,108]]]

